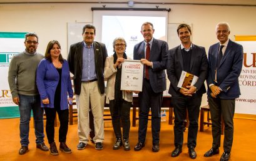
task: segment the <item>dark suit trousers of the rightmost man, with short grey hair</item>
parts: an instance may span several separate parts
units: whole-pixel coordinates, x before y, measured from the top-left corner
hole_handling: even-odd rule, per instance
[[[233,144],[233,115],[235,114],[235,99],[214,99],[208,97],[210,114],[212,119],[212,147],[220,147],[220,136],[222,134],[222,119],[224,129],[224,152],[230,152]]]

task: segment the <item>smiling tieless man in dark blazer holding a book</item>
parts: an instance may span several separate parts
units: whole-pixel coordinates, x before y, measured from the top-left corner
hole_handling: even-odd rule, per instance
[[[187,24],[180,24],[177,28],[181,45],[168,51],[166,64],[168,79],[170,80],[169,94],[172,95],[172,104],[175,115],[174,120],[174,144],[175,150],[172,157],[177,157],[182,152],[183,145],[183,120],[188,111],[188,153],[190,158],[195,159],[197,153],[198,117],[202,95],[206,92],[205,79],[207,78],[207,55],[204,47],[192,44],[190,40],[191,28]],[[185,88],[177,87],[182,71],[197,76],[195,84]]]

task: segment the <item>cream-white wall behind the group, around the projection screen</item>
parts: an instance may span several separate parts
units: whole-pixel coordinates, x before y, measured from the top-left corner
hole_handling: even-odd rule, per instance
[[[44,54],[50,40],[60,42],[63,57],[67,56],[67,22],[93,22],[91,7],[103,4],[0,4],[0,32],[36,32],[38,51]],[[135,7],[155,7],[155,4],[136,4]],[[193,43],[208,47],[217,42],[215,25],[230,24],[230,39],[235,35],[256,35],[256,7],[159,5],[171,8],[168,23],[192,24]],[[107,4],[106,7],[128,7],[127,4]],[[110,31],[115,32],[115,31]],[[96,31],[97,36],[97,31]],[[1,50],[1,49],[0,49]],[[205,95],[203,104],[207,104]]]

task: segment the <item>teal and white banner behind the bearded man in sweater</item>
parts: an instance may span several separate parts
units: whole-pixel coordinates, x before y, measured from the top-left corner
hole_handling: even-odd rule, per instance
[[[8,84],[8,70],[14,54],[24,51],[26,32],[0,32],[0,118],[19,117]],[[29,79],[29,78],[28,78]]]

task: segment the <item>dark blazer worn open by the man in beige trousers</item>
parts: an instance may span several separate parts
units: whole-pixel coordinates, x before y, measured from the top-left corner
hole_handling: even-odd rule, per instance
[[[100,42],[93,42],[95,51],[95,69],[98,79],[98,87],[101,94],[105,92],[104,84],[104,66],[108,52],[106,46]],[[82,79],[82,67],[83,67],[83,41],[76,44],[72,44],[68,54],[69,70],[74,74],[74,93],[79,95],[81,92],[81,79]]]

